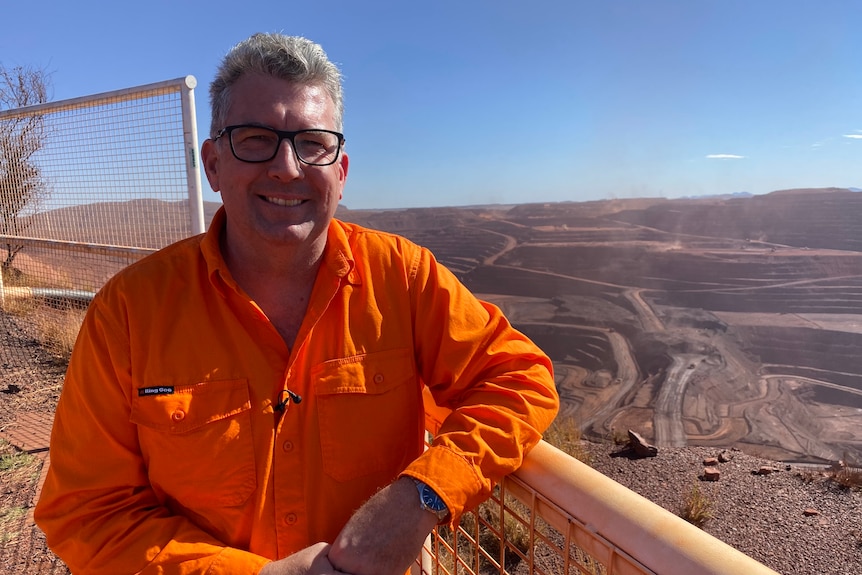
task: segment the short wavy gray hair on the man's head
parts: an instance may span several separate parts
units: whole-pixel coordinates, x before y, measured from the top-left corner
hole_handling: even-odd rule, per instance
[[[215,138],[224,128],[231,104],[231,87],[246,73],[322,86],[335,104],[335,129],[343,131],[341,72],[329,61],[323,48],[299,36],[258,33],[230,49],[210,84],[210,138]]]

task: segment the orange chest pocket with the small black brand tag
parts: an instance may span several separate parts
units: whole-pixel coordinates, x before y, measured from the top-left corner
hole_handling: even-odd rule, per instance
[[[197,508],[239,505],[255,490],[246,380],[146,388],[130,419],[157,494]]]

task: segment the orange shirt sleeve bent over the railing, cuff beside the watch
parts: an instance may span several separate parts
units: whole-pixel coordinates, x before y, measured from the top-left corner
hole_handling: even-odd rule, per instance
[[[428,483],[452,520],[520,467],[559,409],[548,356],[494,305],[421,249],[412,284],[419,372],[451,410],[405,475]]]

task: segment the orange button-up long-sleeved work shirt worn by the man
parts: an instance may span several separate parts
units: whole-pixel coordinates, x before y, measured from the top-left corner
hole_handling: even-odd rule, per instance
[[[224,222],[89,307],[35,514],[77,575],[256,573],[403,474],[457,519],[553,420],[547,356],[428,250],[333,221],[288,349],[231,277]],[[453,410],[424,452],[423,386]],[[301,403],[274,409],[288,389]]]

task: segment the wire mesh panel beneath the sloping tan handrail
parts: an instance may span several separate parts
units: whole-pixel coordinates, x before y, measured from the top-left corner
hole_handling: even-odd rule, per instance
[[[423,394],[430,445],[449,411],[437,406],[427,389]],[[578,479],[571,470],[583,465],[580,461],[544,441],[528,458],[552,488],[537,485],[523,468],[504,477],[491,496],[464,513],[457,525],[434,530],[411,575],[655,574],[573,508],[554,502],[572,502]]]

